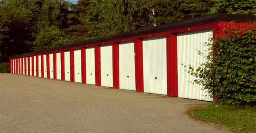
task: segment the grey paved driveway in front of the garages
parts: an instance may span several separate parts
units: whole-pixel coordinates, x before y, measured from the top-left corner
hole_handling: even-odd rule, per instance
[[[0,133],[221,133],[184,113],[208,102],[0,74]]]

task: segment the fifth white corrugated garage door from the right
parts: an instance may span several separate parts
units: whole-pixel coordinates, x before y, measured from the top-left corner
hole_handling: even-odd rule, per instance
[[[85,49],[86,84],[95,84],[94,47]]]

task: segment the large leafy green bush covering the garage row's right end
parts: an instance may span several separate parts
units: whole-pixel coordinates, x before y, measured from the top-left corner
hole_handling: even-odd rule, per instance
[[[227,104],[256,104],[256,28],[228,26],[213,39],[208,61],[189,67],[197,84],[203,84],[214,99]],[[195,71],[194,71],[195,70]]]

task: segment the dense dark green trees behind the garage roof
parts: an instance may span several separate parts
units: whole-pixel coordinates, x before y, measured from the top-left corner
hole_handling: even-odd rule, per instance
[[[255,0],[1,0],[0,61],[9,56],[213,13],[256,15]]]

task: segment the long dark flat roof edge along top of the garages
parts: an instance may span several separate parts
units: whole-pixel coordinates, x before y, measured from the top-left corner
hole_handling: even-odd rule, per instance
[[[162,31],[175,30],[175,29],[180,29],[180,28],[184,28],[184,27],[203,25],[203,24],[208,24],[208,23],[213,23],[213,22],[218,22],[218,21],[253,22],[255,20],[256,20],[255,15],[234,15],[234,14],[215,13],[215,14],[211,14],[211,15],[204,15],[204,16],[187,19],[187,20],[181,20],[181,21],[172,22],[172,23],[168,23],[168,24],[157,25],[157,26],[153,26],[153,27],[149,27],[149,28],[133,30],[133,31],[124,32],[124,33],[120,33],[120,34],[114,34],[114,35],[105,36],[105,37],[101,37],[101,38],[97,38],[97,39],[85,40],[85,41],[77,42],[74,44],[66,44],[66,45],[62,45],[59,47],[42,49],[42,50],[30,52],[30,53],[14,55],[9,58],[43,53],[43,52],[54,51],[54,50],[59,50],[59,49],[68,49],[68,48],[78,47],[78,46],[86,45],[86,44],[101,43],[101,42],[106,42],[106,41],[112,41],[115,39],[123,39],[123,38],[128,38],[128,37],[144,35],[144,34],[152,34],[152,33],[157,33],[157,32],[162,32]]]

